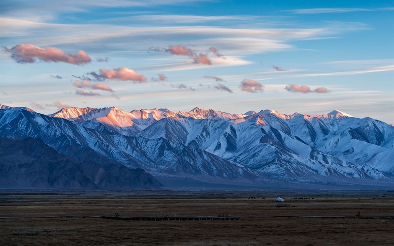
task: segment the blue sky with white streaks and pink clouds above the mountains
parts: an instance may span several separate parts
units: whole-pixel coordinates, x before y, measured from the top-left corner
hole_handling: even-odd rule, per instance
[[[0,103],[394,123],[394,0],[0,1]]]

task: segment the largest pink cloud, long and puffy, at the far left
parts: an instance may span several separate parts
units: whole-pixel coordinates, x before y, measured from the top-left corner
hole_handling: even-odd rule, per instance
[[[74,65],[83,65],[92,61],[82,50],[76,54],[65,54],[63,50],[55,47],[42,49],[32,44],[20,44],[11,49],[3,47],[3,50],[11,53],[11,58],[18,63],[33,63],[38,59],[44,62],[66,62]]]

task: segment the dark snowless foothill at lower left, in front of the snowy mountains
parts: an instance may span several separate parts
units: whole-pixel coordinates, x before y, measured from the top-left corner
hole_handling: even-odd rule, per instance
[[[143,169],[79,161],[41,139],[0,138],[0,186],[69,189],[160,189]]]

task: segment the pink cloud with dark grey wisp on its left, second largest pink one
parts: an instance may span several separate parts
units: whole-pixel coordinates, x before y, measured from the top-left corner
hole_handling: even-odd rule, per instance
[[[93,77],[95,77],[98,81],[102,81],[105,79],[115,79],[115,80],[123,80],[123,81],[133,81],[134,83],[143,83],[146,82],[146,77],[136,73],[131,68],[127,67],[119,67],[114,69],[105,69],[101,68],[100,73],[91,72],[89,73]]]

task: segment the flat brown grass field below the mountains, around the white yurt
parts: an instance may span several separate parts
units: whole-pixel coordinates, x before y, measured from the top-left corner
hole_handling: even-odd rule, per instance
[[[0,217],[91,215],[394,215],[394,193],[143,194],[0,191]],[[256,196],[256,194],[252,194]],[[263,199],[263,196],[265,199]],[[312,199],[313,198],[313,199]],[[393,245],[394,219],[240,218],[123,221],[102,218],[1,218],[0,245]]]

